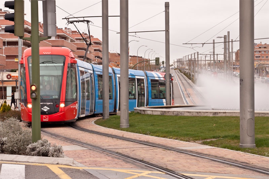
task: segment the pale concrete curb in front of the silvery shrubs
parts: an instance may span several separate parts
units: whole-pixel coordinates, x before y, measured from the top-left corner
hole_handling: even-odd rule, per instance
[[[39,157],[39,156],[28,156],[28,155],[0,154],[0,160],[31,162],[31,163],[48,163],[48,164],[70,165],[70,166],[75,165],[74,159],[68,158],[68,157],[60,158],[60,157]]]

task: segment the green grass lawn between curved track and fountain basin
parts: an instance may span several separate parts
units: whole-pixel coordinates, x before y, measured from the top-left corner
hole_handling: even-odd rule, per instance
[[[107,120],[98,119],[95,124],[269,157],[268,117],[255,117],[255,149],[239,147],[239,117],[158,116],[132,112],[129,114],[129,128],[120,128],[120,116],[117,115]]]

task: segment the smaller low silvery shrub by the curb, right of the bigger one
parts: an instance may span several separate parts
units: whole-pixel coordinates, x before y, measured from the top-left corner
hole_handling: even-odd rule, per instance
[[[56,146],[47,139],[38,140],[36,143],[32,143],[27,147],[27,155],[42,156],[42,157],[64,157],[62,146]]]

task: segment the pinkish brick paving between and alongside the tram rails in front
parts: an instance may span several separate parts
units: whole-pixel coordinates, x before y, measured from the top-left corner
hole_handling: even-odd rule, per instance
[[[241,162],[269,170],[269,157],[262,157],[243,152],[236,152],[227,149],[214,148],[210,146],[203,146],[196,143],[183,142],[178,140],[171,140],[159,137],[146,136],[142,134],[134,134],[114,129],[103,128],[92,123],[97,118],[90,118],[79,120],[76,122],[77,126],[87,128],[94,131],[99,131],[108,134],[114,134],[123,137],[134,138],[137,140],[148,141],[151,143],[158,143],[166,146],[172,146],[179,149],[185,149],[189,152],[199,152],[202,154],[221,156],[224,159],[229,159],[235,162]],[[97,134],[88,134],[83,131],[78,131],[70,127],[59,128],[43,128],[46,131],[71,137],[76,140],[90,143],[95,146],[109,149],[114,152],[130,155],[132,157],[144,160],[156,165],[168,168],[173,171],[186,172],[208,172],[208,173],[223,173],[246,176],[267,176],[257,174],[256,172],[241,169],[227,164],[217,163],[211,160],[205,160],[194,156],[181,154],[178,152],[167,151],[160,148],[144,146],[142,144],[132,143],[110,137],[100,136]],[[56,143],[61,146],[76,145],[74,143],[67,143],[65,141],[50,137],[42,133],[44,138],[47,138],[51,143]],[[132,168],[145,169],[142,164],[130,162],[127,159],[116,157],[111,154],[97,151],[96,149],[86,150],[68,150],[65,151],[65,156],[74,158],[79,163],[85,166],[108,167],[108,168]]]

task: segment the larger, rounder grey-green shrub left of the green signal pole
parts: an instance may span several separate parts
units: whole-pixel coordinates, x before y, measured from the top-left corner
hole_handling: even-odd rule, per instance
[[[17,119],[9,118],[0,122],[0,141],[2,153],[24,155],[32,142],[31,130],[22,128]]]

